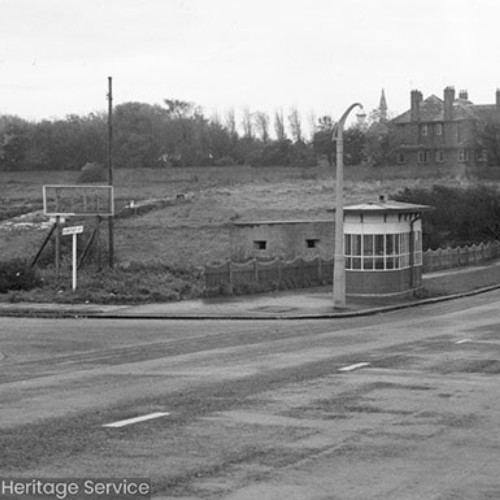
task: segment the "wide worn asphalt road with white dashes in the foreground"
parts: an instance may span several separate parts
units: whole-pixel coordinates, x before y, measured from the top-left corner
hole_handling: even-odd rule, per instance
[[[499,303],[0,318],[0,475],[151,477],[163,500],[500,498]]]

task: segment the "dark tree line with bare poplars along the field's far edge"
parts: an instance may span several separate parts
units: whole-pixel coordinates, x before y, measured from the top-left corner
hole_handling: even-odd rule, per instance
[[[166,99],[162,105],[127,102],[113,110],[113,159],[117,168],[189,166],[312,166],[333,162],[335,122],[312,122],[309,137],[297,109],[274,116],[244,109],[207,118],[193,103]],[[107,161],[107,115],[68,115],[32,122],[0,116],[0,170],[77,170]],[[373,134],[371,134],[373,136]],[[385,160],[383,137],[366,126],[344,133],[346,165]]]

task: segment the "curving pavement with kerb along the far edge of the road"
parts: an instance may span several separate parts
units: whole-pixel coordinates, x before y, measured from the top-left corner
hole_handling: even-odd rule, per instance
[[[333,307],[331,286],[261,295],[232,296],[140,305],[0,302],[0,316],[102,319],[328,319],[379,314],[452,300],[500,288],[499,262],[428,273],[424,299],[347,297]]]

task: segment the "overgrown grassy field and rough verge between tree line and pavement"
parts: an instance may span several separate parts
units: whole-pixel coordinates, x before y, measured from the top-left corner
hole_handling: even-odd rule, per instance
[[[42,288],[12,293],[8,300],[124,303],[199,296],[202,279],[196,269],[228,258],[228,228],[234,220],[324,218],[335,206],[334,174],[335,169],[328,167],[116,169],[118,207],[132,200],[175,198],[179,194],[189,194],[189,202],[117,219],[114,247],[121,267],[101,273],[89,267],[79,272],[76,292],[70,290],[69,274],[56,282],[49,269],[42,273]],[[428,188],[438,179],[447,186],[464,182],[445,175],[424,167],[348,167],[345,202],[376,200],[380,194],[390,195],[406,187]],[[77,177],[76,171],[0,172],[0,213],[16,203],[31,209],[32,203],[41,203],[44,184],[75,184]],[[83,224],[86,240],[95,222],[67,223]],[[106,248],[106,223],[102,226],[102,248]],[[0,231],[0,260],[22,257],[30,261],[46,234],[46,230],[36,229]],[[63,258],[68,259],[70,253],[63,248]],[[52,262],[51,258],[48,261]],[[65,272],[69,273],[68,265]]]

